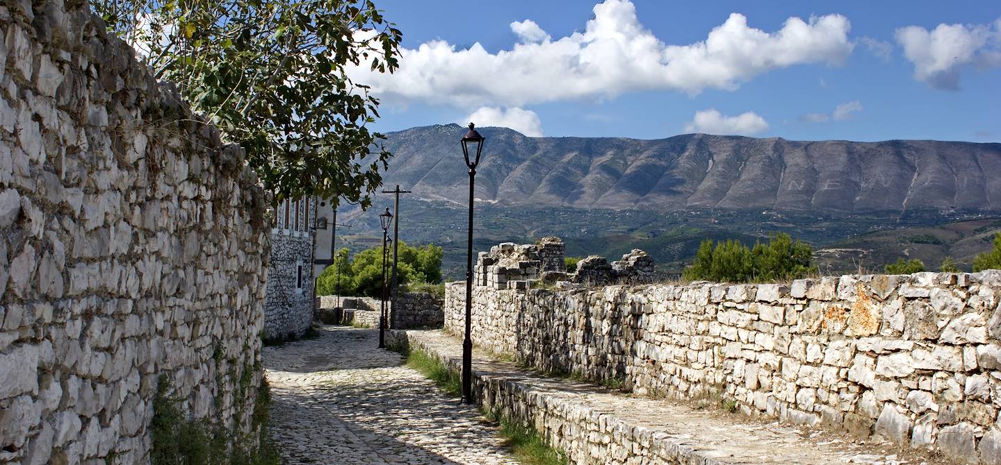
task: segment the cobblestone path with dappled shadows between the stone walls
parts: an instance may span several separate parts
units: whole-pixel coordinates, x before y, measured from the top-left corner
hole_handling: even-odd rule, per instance
[[[475,407],[442,394],[378,331],[328,326],[264,348],[271,437],[289,464],[515,464]]]

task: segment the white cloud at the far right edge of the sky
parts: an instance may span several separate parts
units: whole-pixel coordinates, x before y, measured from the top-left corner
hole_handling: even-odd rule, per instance
[[[1001,66],[1001,18],[993,24],[939,24],[897,29],[897,43],[914,63],[914,78],[939,89],[958,89],[966,66]]]

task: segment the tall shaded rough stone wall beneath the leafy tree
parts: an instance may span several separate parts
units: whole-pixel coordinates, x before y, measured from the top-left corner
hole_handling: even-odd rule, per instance
[[[32,5],[0,5],[0,462],[147,462],[161,376],[255,447],[256,177],[85,2]]]

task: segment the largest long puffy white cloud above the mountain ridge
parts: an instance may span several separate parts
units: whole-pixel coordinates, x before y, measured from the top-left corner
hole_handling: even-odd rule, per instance
[[[583,32],[547,40],[529,20],[512,24],[522,43],[489,53],[478,43],[460,49],[445,41],[400,50],[394,74],[352,69],[389,101],[460,106],[525,106],[581,98],[612,98],[625,92],[736,89],[770,70],[806,63],[841,65],[852,52],[851,24],[841,15],[792,17],[766,32],[733,13],[705,40],[665,44],[637,17],[628,0],[595,5]]]

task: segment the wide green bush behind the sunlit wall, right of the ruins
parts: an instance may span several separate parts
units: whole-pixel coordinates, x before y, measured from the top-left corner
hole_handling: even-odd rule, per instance
[[[813,247],[789,234],[780,233],[768,244],[750,248],[740,241],[707,239],[699,246],[695,262],[686,268],[686,279],[718,282],[750,282],[795,279],[817,271],[812,265]]]

